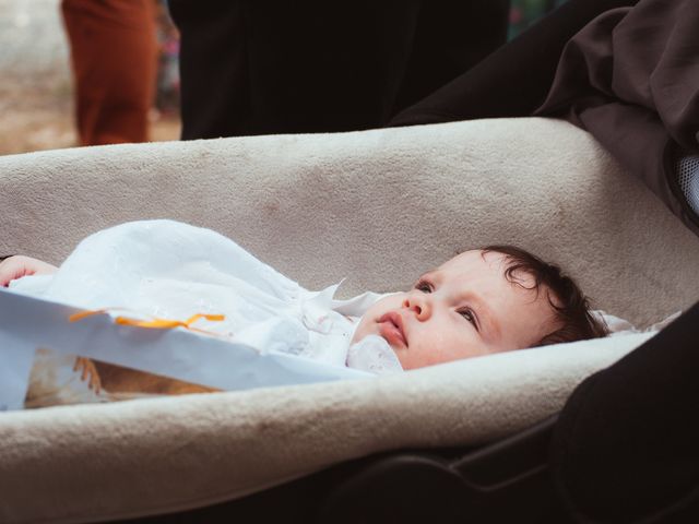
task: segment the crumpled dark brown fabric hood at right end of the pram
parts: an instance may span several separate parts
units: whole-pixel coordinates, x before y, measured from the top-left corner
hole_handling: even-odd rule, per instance
[[[674,158],[699,143],[699,0],[612,9],[566,45],[535,115],[591,132],[699,235]]]

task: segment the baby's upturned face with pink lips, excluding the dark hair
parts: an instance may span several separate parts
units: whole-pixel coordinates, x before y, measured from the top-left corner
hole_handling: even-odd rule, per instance
[[[509,282],[507,258],[466,251],[386,297],[362,318],[354,342],[383,337],[403,369],[530,347],[557,325],[548,293]],[[513,275],[525,287],[533,278]]]

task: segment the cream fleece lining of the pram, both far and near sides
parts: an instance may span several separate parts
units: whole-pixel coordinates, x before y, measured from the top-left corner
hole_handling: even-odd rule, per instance
[[[584,131],[546,119],[85,147],[0,157],[0,253],[59,263],[95,230],[174,218],[308,288],[406,288],[516,243],[643,326],[699,296],[699,242]],[[485,442],[560,408],[647,335],[396,377],[0,414],[0,522],[234,499],[340,461]]]

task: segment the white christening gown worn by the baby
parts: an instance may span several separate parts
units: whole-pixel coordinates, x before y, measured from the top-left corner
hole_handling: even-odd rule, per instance
[[[377,374],[402,371],[379,336],[351,341],[380,295],[335,300],[339,285],[309,291],[210,229],[143,221],[83,240],[51,276],[11,283],[16,291],[83,308],[123,309],[180,320],[223,314],[197,326],[260,352],[281,352]]]

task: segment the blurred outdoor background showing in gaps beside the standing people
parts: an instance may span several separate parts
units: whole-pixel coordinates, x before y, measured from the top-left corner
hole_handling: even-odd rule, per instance
[[[565,0],[512,0],[509,38]],[[165,0],[155,5],[158,74],[152,141],[178,140],[179,40]],[[0,0],[0,155],[78,145],[73,80],[59,0]]]

